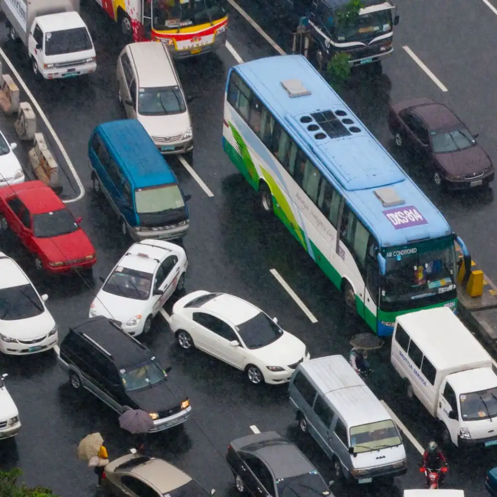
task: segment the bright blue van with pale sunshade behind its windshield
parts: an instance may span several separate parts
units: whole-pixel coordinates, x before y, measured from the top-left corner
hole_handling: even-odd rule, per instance
[[[182,239],[189,229],[178,180],[145,128],[135,119],[99,124],[88,142],[88,165],[96,195],[105,195],[123,235]]]

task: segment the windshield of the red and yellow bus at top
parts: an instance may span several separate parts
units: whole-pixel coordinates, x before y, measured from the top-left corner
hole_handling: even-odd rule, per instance
[[[226,15],[224,7],[218,0],[153,1],[153,26],[157,31],[213,22]]]

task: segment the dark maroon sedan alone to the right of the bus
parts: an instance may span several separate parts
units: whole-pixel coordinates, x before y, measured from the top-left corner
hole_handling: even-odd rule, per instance
[[[494,166],[461,120],[445,105],[417,98],[393,105],[390,131],[426,163],[438,186],[451,189],[487,186]]]

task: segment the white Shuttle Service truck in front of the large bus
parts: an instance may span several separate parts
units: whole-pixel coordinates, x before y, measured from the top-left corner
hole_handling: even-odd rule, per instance
[[[448,307],[397,317],[391,361],[438,418],[444,442],[497,445],[497,375],[492,357]]]

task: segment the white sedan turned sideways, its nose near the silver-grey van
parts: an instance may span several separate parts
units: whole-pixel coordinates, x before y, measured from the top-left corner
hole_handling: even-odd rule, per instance
[[[310,358],[276,318],[226,293],[199,290],[179,299],[170,327],[180,347],[196,347],[247,373],[250,383],[285,383]]]

